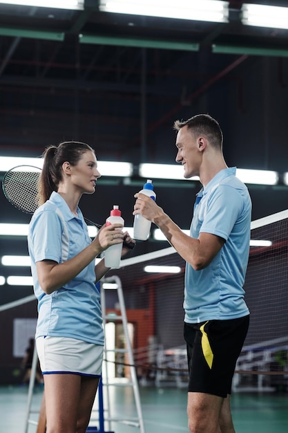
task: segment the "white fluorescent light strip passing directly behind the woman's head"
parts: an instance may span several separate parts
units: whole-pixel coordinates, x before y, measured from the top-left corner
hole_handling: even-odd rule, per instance
[[[133,174],[132,163],[117,161],[97,161],[99,172],[102,176],[127,177]],[[32,165],[43,167],[43,158],[21,158],[15,156],[0,156],[0,172],[7,172],[17,165]]]

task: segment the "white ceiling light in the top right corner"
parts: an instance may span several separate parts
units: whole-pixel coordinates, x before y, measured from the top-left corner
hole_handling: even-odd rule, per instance
[[[243,3],[241,12],[246,26],[288,29],[288,8]]]

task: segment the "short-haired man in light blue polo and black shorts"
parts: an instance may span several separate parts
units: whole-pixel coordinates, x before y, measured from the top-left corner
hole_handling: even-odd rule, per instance
[[[251,199],[228,168],[222,131],[200,114],[174,124],[176,162],[184,178],[199,176],[190,237],[144,194],[133,214],[155,223],[186,261],[184,338],[189,362],[191,433],[235,433],[230,409],[233,372],[249,326],[244,277],[249,257]]]

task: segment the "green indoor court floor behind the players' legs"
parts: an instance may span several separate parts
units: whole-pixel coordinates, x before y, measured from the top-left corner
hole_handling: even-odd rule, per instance
[[[35,387],[32,397],[30,418],[37,420],[43,389]],[[110,393],[111,416],[137,417],[133,390],[117,388]],[[188,432],[186,419],[186,390],[173,387],[140,387],[142,414],[145,433]],[[25,433],[28,402],[28,387],[0,387],[0,432]],[[231,397],[236,433],[287,433],[288,394],[236,393]],[[105,407],[104,407],[105,408]],[[35,413],[34,413],[35,411]],[[93,418],[97,418],[97,410]],[[96,421],[91,421],[97,427]],[[27,433],[35,433],[37,427],[28,425]],[[98,427],[99,429],[99,427]],[[122,423],[106,425],[105,430],[113,433],[137,433],[138,427]]]

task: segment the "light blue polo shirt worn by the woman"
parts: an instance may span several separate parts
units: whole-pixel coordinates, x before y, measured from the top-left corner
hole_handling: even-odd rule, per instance
[[[104,344],[99,291],[95,286],[95,263],[72,281],[46,295],[42,291],[36,262],[45,259],[63,263],[75,257],[91,242],[81,210],[78,217],[64,199],[52,192],[50,199],[33,214],[29,225],[28,249],[34,291],[38,300],[36,338],[50,335]]]

